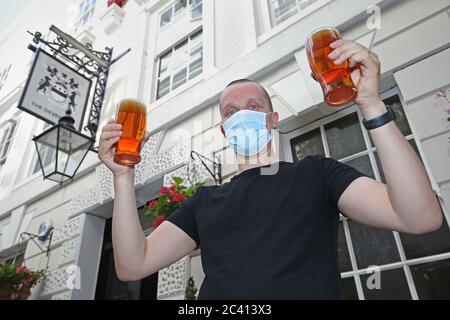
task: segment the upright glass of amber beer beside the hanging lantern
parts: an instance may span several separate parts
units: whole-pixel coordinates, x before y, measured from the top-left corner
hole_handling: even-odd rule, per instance
[[[116,144],[114,162],[132,166],[141,161],[140,144],[147,128],[147,111],[143,103],[125,99],[118,103],[116,123],[122,125],[122,136]]]

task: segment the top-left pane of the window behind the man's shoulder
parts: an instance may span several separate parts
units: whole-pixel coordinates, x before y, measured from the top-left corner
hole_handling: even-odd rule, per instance
[[[291,140],[292,158],[300,161],[311,155],[325,156],[320,129],[312,130]]]

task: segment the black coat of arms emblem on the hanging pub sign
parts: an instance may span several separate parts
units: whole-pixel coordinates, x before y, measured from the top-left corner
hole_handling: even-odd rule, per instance
[[[79,87],[80,84],[74,78],[59,71],[55,66],[47,65],[46,73],[39,80],[36,93],[52,99],[57,106],[70,108],[73,113],[78,104],[77,97],[80,96]]]

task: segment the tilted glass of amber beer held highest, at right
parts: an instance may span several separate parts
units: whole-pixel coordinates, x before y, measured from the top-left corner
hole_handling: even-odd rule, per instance
[[[348,60],[335,65],[328,58],[328,54],[334,50],[330,44],[341,38],[337,29],[327,27],[314,31],[306,41],[309,66],[322,86],[325,102],[331,107],[353,101],[358,93],[350,76]]]

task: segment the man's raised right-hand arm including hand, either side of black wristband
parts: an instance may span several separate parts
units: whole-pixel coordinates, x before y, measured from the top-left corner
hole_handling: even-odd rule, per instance
[[[356,103],[366,120],[386,112],[379,98],[380,61],[363,46],[348,40],[331,45],[335,64],[346,59],[354,68],[352,79],[358,88]],[[390,122],[370,130],[380,157],[386,184],[358,178],[338,201],[339,210],[354,220],[375,227],[421,234],[438,229],[442,211],[419,158],[402,133]]]

